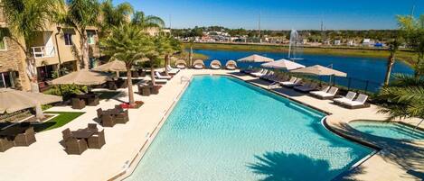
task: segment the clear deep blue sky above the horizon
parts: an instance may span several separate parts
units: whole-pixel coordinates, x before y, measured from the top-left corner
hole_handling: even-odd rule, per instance
[[[262,30],[396,29],[396,15],[424,14],[424,0],[114,0],[172,28],[220,25]]]

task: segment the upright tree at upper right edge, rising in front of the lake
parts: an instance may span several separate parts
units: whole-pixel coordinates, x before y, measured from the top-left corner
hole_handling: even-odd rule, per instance
[[[417,54],[414,68],[415,77],[419,78],[424,74],[424,14],[418,20],[410,15],[398,16],[398,23],[408,46]]]

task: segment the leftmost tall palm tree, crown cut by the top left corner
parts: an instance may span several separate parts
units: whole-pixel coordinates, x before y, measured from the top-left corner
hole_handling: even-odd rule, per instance
[[[8,24],[8,30],[2,32],[17,43],[24,52],[26,74],[31,80],[31,89],[33,92],[39,92],[37,70],[31,45],[37,36],[37,31],[43,31],[43,28],[47,27],[47,24],[54,19],[54,13],[60,11],[61,2],[56,0],[3,0],[1,3],[3,3]]]

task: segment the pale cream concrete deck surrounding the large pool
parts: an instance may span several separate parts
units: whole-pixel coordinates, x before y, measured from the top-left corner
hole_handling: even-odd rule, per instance
[[[140,150],[146,149],[151,142],[151,134],[165,119],[165,114],[173,106],[175,100],[184,91],[188,82],[181,82],[181,77],[192,77],[200,74],[231,74],[256,86],[267,88],[267,82],[254,77],[245,76],[237,71],[227,70],[193,70],[184,69],[160,90],[159,95],[135,95],[136,100],[145,104],[134,110],[129,110],[130,121],[127,124],[117,124],[113,128],[104,128],[106,145],[102,149],[88,149],[80,156],[67,155],[59,141],[61,131],[70,128],[71,131],[87,127],[97,117],[96,109],[108,109],[127,102],[127,89],[119,89],[121,93],[113,99],[102,100],[98,106],[86,107],[82,110],[72,110],[70,106],[53,107],[48,111],[86,112],[65,126],[51,131],[36,134],[37,141],[30,147],[14,147],[0,153],[1,180],[108,180],[124,171],[128,164],[137,156]],[[137,88],[135,88],[137,91]],[[348,110],[330,101],[298,94],[290,89],[275,89],[278,93],[293,100],[317,107],[331,113],[326,119],[334,131],[344,136],[361,138],[361,140],[382,148],[377,154],[367,159],[360,167],[347,176],[360,180],[419,180],[417,174],[424,173],[424,143],[396,142],[374,138],[354,131],[347,126],[353,120],[384,120],[383,114],[376,113],[378,107],[359,110]],[[409,122],[418,122],[409,120]],[[157,131],[154,132],[157,133]],[[148,140],[148,141],[147,141]],[[145,143],[147,142],[146,146]],[[138,155],[139,157],[139,155]],[[131,167],[137,166],[137,159]],[[407,173],[412,169],[411,174]],[[123,176],[118,177],[118,179]]]

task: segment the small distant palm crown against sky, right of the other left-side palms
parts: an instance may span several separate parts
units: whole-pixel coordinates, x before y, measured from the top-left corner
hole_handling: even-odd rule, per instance
[[[142,29],[146,28],[163,28],[165,26],[164,20],[155,15],[146,15],[142,11],[137,11],[133,14],[131,23],[137,24]]]

